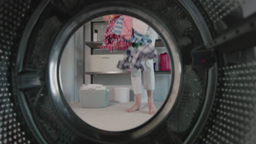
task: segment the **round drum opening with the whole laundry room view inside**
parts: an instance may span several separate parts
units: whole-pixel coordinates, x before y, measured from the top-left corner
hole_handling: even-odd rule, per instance
[[[127,15],[96,17],[78,28],[63,50],[63,96],[93,127],[136,128],[161,109],[172,89],[170,56],[147,23]]]

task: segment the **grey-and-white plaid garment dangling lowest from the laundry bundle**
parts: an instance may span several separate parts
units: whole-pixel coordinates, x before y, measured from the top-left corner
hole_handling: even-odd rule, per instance
[[[125,58],[123,61],[118,62],[117,68],[121,70],[141,69],[143,71],[144,65],[141,62],[156,57],[158,57],[158,52],[151,44],[139,46],[133,55],[131,54],[131,51],[127,49]]]

